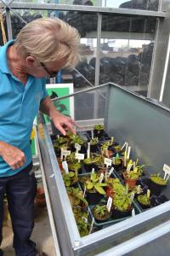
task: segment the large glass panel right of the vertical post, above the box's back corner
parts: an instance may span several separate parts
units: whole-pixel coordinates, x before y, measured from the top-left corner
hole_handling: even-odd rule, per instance
[[[99,83],[114,82],[146,96],[156,19],[102,15]]]

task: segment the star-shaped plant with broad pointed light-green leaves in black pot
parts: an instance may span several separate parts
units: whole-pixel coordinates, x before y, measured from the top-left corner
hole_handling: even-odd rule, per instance
[[[96,205],[100,199],[105,195],[106,183],[99,183],[99,177],[95,172],[91,173],[90,179],[86,181],[86,195],[90,205]]]

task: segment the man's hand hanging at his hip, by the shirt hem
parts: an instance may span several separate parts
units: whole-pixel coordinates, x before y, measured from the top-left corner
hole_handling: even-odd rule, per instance
[[[0,142],[0,155],[13,170],[24,166],[26,163],[25,154],[19,148],[8,143]]]

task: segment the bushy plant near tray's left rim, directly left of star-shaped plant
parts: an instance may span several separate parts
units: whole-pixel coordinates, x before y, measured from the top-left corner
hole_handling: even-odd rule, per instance
[[[83,197],[83,193],[79,188],[67,187],[66,191],[71,202],[71,207],[80,206],[81,204],[88,206],[88,201]]]

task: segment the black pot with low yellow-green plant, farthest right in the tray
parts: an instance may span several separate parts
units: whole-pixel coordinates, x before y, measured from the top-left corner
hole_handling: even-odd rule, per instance
[[[150,190],[154,195],[160,195],[167,186],[167,181],[160,177],[160,173],[150,175]]]

